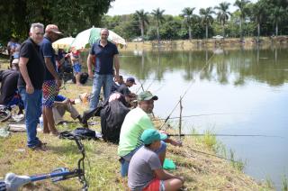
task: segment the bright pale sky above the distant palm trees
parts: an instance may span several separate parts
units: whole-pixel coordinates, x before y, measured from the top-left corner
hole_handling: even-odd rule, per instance
[[[150,13],[152,10],[157,9],[157,7],[160,7],[161,10],[165,9],[164,14],[172,15],[181,14],[184,7],[196,7],[194,13],[198,14],[200,8],[214,7],[223,1],[225,0],[115,0],[108,14],[133,14],[136,10],[140,9],[144,9]],[[235,0],[226,0],[226,2],[231,4],[231,12],[236,10],[236,7],[233,6]],[[251,2],[256,3],[257,0],[251,0]]]

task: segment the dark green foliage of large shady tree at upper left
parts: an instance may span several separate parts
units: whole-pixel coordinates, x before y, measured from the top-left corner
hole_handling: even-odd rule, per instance
[[[65,35],[99,25],[114,0],[0,0],[0,41],[25,39],[31,23],[56,23]]]

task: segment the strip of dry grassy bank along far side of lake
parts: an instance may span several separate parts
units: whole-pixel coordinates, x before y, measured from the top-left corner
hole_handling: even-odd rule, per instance
[[[270,46],[287,46],[288,36],[261,37],[260,43],[257,38],[247,37],[242,42],[238,38],[226,38],[221,40],[173,40],[173,41],[128,41],[120,51],[133,50],[214,50],[214,49],[253,49],[268,48]]]

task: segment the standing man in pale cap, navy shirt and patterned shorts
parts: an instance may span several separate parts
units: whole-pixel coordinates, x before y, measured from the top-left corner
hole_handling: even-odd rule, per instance
[[[58,135],[53,119],[52,107],[57,89],[61,86],[61,80],[56,70],[55,51],[52,48],[52,42],[58,39],[58,26],[49,24],[46,26],[44,39],[40,44],[40,50],[45,60],[46,75],[43,82],[42,114],[43,114],[43,132],[51,132]]]

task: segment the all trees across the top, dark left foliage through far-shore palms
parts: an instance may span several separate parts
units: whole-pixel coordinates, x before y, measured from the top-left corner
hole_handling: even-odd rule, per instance
[[[66,36],[92,27],[106,27],[126,40],[141,36],[145,40],[204,39],[214,35],[243,39],[244,36],[287,35],[287,0],[225,0],[215,7],[184,7],[176,16],[157,8],[134,14],[109,16],[114,0],[0,0],[0,42],[11,36],[24,40],[31,23],[58,24]],[[237,7],[233,13],[231,6]]]

